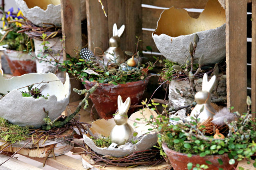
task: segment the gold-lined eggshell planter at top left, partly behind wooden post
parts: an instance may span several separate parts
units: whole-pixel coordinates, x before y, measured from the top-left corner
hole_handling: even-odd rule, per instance
[[[15,0],[23,15],[33,24],[61,24],[61,0]],[[86,19],[85,0],[81,0],[81,19]]]

